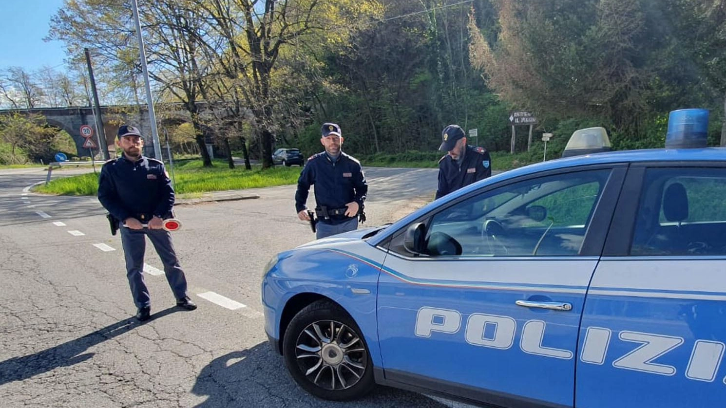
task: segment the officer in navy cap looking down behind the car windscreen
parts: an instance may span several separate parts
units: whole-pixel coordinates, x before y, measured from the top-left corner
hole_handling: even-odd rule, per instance
[[[492,158],[484,147],[466,144],[464,130],[457,125],[449,125],[441,132],[439,150],[447,152],[439,160],[439,188],[436,198],[449,192],[486,179],[492,175]]]

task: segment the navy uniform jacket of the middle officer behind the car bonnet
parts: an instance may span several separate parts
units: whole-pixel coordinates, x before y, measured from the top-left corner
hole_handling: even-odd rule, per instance
[[[368,184],[355,158],[340,152],[338,160],[333,162],[325,152],[311,156],[298,178],[298,191],[295,192],[295,210],[299,213],[307,208],[306,202],[311,185],[315,185],[315,202],[327,208],[345,208],[347,203],[355,201],[360,208],[368,194]],[[346,217],[333,217],[330,224],[347,221]]]

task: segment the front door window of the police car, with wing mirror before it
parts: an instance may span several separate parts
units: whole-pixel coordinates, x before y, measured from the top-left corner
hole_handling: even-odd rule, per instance
[[[431,256],[574,256],[610,169],[529,179],[433,215]],[[443,248],[443,249],[442,249]]]

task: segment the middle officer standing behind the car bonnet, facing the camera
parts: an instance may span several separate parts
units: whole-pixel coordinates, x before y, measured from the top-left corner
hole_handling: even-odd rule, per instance
[[[298,218],[310,221],[306,202],[310,186],[315,185],[318,239],[358,228],[358,216],[368,194],[361,163],[341,150],[340,126],[324,123],[320,143],[325,151],[308,159],[295,192]]]

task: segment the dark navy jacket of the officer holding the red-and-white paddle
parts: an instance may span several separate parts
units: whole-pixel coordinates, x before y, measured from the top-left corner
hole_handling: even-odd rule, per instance
[[[171,216],[174,188],[164,163],[145,156],[132,162],[121,156],[101,168],[98,200],[115,219],[134,217],[146,224],[153,216]]]

